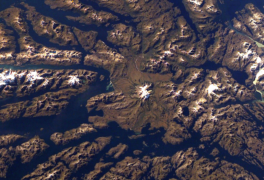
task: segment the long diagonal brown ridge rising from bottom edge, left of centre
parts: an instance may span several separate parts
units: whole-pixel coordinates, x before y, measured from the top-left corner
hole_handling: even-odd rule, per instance
[[[95,142],[83,142],[50,156],[49,160],[39,164],[36,169],[22,179],[68,179],[73,172],[87,165],[92,158],[110,143],[111,137],[99,137]]]

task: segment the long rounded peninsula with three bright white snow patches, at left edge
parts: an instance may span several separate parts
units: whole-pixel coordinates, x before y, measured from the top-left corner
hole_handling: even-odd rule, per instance
[[[90,84],[96,82],[97,77],[96,72],[83,69],[4,69],[0,71],[0,99],[11,96],[23,97],[50,90],[76,90],[77,87],[83,91]],[[38,103],[42,106],[41,102]]]

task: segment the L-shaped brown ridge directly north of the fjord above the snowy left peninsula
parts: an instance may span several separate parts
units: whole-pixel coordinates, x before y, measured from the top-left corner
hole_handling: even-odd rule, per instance
[[[72,65],[80,64],[82,53],[74,50],[59,50],[48,48],[35,42],[29,35],[29,27],[25,18],[24,11],[20,8],[10,7],[0,12],[0,17],[4,18],[7,25],[13,27],[20,35],[18,44],[20,53],[13,58],[15,65],[23,64],[52,64],[52,65]],[[10,14],[12,14],[10,16]]]

